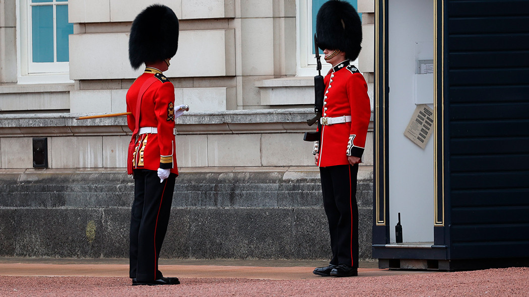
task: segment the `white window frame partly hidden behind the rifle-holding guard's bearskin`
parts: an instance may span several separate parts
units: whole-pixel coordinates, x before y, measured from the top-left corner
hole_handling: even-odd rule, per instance
[[[317,71],[316,55],[312,53],[314,34],[312,33],[311,0],[296,0],[296,36],[296,76],[315,76]],[[320,56],[322,75],[325,76],[331,69],[331,64],[325,62],[323,54]],[[358,66],[358,59],[352,63]]]

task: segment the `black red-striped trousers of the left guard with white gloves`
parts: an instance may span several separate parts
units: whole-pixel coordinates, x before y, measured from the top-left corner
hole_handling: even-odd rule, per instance
[[[153,170],[134,170],[134,202],[130,227],[130,277],[138,281],[159,279],[160,249],[167,232],[176,174],[160,183]]]

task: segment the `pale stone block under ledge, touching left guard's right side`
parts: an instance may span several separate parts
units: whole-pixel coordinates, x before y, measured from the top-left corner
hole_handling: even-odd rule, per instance
[[[178,168],[207,167],[207,136],[177,135],[176,160]]]

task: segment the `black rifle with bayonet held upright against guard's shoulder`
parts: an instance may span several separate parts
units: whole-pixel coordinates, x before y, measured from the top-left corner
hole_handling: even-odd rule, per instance
[[[318,49],[318,39],[314,34],[314,49],[316,50],[316,70],[318,75],[314,77],[314,113],[316,114],[313,118],[307,119],[309,126],[314,125],[318,122],[318,132],[305,132],[303,137],[304,141],[320,141],[322,124],[320,118],[323,113],[323,92],[325,90],[325,83],[323,82],[322,76],[322,62],[320,61],[320,49]]]

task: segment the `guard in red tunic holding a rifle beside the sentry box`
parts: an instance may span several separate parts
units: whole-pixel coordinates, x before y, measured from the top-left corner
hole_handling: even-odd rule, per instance
[[[350,61],[358,57],[362,27],[347,2],[331,0],[316,16],[318,47],[332,69],[324,78],[321,138],[315,143],[325,213],[329,221],[332,259],[315,268],[322,276],[358,275],[358,164],[371,116],[367,83]]]

